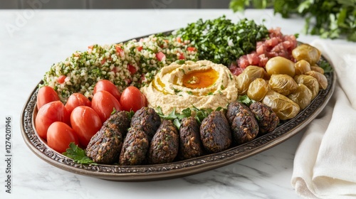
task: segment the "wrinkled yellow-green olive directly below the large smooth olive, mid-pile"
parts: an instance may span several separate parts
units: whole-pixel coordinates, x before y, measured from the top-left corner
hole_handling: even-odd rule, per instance
[[[290,95],[293,93],[298,85],[289,75],[271,75],[268,81],[271,90],[274,90],[281,95]]]

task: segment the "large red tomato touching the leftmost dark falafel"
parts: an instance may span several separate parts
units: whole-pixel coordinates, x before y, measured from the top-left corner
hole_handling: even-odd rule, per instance
[[[77,134],[79,143],[86,148],[93,135],[95,135],[103,125],[99,115],[90,107],[75,107],[70,114],[70,124]]]

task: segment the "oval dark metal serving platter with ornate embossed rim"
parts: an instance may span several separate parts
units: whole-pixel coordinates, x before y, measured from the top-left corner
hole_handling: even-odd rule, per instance
[[[172,31],[167,31],[164,34],[169,34],[171,32]],[[323,57],[322,59],[325,60]],[[258,136],[246,144],[241,144],[219,153],[199,156],[184,161],[140,166],[75,163],[73,159],[51,149],[46,144],[46,141],[43,141],[36,132],[34,124],[37,114],[36,99],[38,85],[42,82],[39,82],[38,85],[36,85],[23,107],[21,113],[21,134],[28,148],[39,158],[53,166],[72,173],[110,181],[157,181],[169,178],[179,178],[209,171],[214,168],[240,161],[281,144],[283,141],[298,134],[301,129],[318,116],[333,95],[336,79],[335,72],[325,72],[325,77],[327,77],[328,80],[328,87],[325,90],[320,90],[318,96],[313,99],[308,107],[300,111],[296,117],[284,121],[283,124],[277,127],[274,131],[263,136]]]

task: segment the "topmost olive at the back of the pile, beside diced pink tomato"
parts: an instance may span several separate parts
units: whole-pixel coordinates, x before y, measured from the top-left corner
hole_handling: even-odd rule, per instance
[[[295,60],[306,60],[310,65],[314,65],[321,57],[320,50],[312,45],[303,43],[292,50]]]

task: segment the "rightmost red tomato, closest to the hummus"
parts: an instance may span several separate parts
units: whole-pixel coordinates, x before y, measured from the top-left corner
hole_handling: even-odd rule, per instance
[[[134,86],[125,88],[120,97],[120,104],[123,110],[136,112],[138,109],[147,106],[147,99],[142,92]]]

